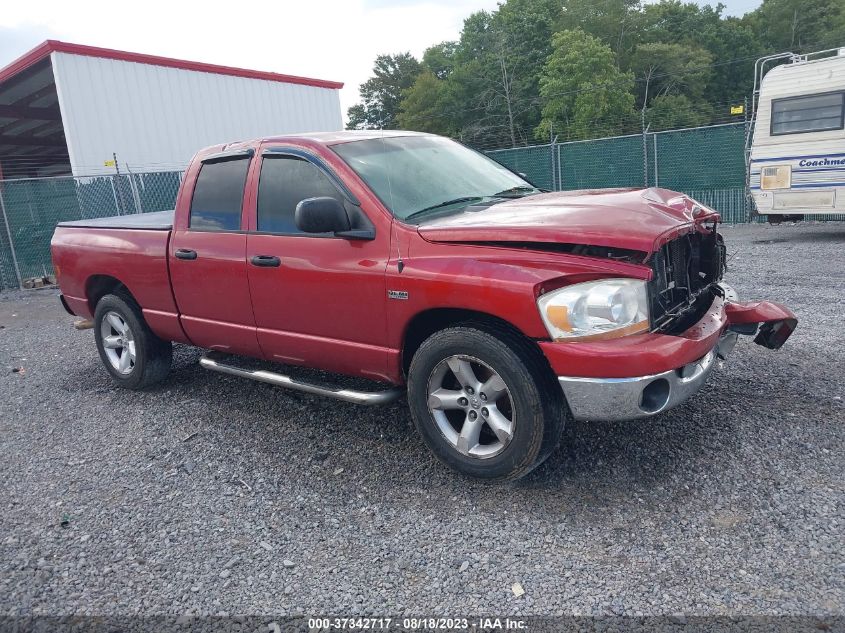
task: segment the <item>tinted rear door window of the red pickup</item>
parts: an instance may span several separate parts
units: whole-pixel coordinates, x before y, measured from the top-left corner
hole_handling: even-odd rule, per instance
[[[238,231],[249,158],[204,163],[191,199],[192,229]]]

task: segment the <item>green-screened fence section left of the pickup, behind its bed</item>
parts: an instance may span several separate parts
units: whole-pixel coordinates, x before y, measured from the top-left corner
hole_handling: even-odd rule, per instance
[[[172,209],[182,172],[0,181],[0,288],[53,273],[50,239],[66,220]]]

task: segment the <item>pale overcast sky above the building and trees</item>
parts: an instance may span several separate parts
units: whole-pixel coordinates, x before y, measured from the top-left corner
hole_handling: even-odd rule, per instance
[[[723,0],[742,15],[760,0]],[[463,19],[497,0],[276,0],[274,2],[8,2],[0,12],[0,67],[45,39],[342,81],[358,98],[379,53],[456,39]],[[715,2],[714,2],[715,4]]]

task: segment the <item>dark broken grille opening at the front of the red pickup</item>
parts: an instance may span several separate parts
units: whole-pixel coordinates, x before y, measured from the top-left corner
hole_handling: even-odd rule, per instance
[[[652,331],[677,334],[701,319],[713,303],[725,271],[725,244],[715,227],[682,235],[663,245],[651,266]]]

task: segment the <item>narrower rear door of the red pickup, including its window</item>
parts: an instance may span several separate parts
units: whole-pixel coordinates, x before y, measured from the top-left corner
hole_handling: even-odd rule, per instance
[[[190,200],[179,200],[169,257],[173,293],[191,342],[208,349],[261,356],[249,296],[243,226],[253,153],[218,154],[191,166],[185,191],[193,195]]]

